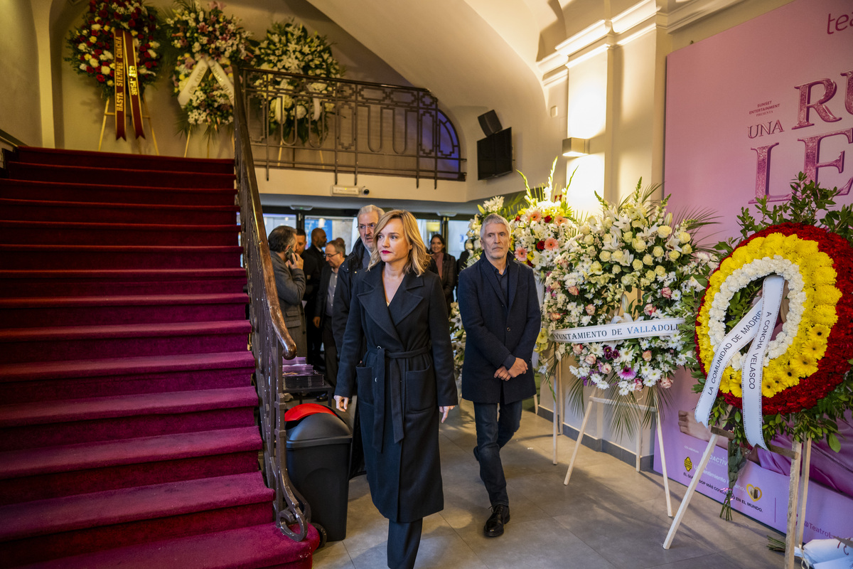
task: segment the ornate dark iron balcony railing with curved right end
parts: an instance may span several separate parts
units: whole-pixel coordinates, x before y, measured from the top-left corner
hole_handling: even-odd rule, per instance
[[[243,67],[256,165],[465,180],[459,137],[428,90]]]

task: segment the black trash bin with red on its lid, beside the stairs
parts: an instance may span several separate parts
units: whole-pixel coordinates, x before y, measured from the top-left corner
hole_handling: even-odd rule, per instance
[[[328,541],[335,542],[346,537],[352,432],[330,410],[288,421],[287,474],[310,504],[311,523],[322,525]]]

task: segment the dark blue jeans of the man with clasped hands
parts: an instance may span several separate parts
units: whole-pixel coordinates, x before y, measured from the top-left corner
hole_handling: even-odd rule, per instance
[[[501,449],[519,430],[521,423],[521,401],[501,404],[475,403],[474,425],[477,427],[477,456],[480,463],[480,479],[483,479],[492,506],[509,505],[507,479],[503,475]]]

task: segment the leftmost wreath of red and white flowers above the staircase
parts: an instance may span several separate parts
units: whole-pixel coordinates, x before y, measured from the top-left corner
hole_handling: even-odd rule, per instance
[[[136,73],[142,90],[157,77],[160,42],[156,39],[157,10],[139,0],[90,0],[82,26],[68,35],[72,55],[66,61],[81,75],[95,78],[105,97],[115,90],[113,32],[127,30],[134,38]]]

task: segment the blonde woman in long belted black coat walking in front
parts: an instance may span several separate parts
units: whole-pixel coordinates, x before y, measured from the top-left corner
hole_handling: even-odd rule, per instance
[[[458,399],[444,291],[414,216],[387,212],[374,243],[353,282],[334,399],[346,410],[358,393],[370,494],[389,520],[388,566],[403,569],[415,566],[424,516],[444,508],[438,421]]]

